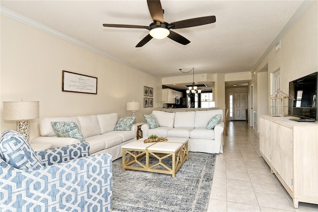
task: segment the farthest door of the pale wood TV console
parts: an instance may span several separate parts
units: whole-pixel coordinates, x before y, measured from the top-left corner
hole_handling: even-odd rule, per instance
[[[270,121],[259,118],[259,150],[270,161]]]

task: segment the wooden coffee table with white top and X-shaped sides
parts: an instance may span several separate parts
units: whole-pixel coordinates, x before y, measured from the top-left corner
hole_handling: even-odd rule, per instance
[[[179,170],[189,157],[188,138],[167,137],[164,142],[144,143],[141,138],[122,146],[123,171],[126,169],[171,174]],[[153,156],[157,163],[149,164],[149,157]],[[167,164],[167,162],[172,165]]]

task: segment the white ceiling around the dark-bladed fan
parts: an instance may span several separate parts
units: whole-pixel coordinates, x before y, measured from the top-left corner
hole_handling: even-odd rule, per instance
[[[148,26],[146,0],[1,0],[2,7],[71,36],[113,58],[161,78],[250,72],[303,0],[161,0],[164,21],[215,15],[216,22],[173,31],[169,38],[136,44],[147,29],[109,28],[103,23]],[[245,82],[246,83],[246,82]]]

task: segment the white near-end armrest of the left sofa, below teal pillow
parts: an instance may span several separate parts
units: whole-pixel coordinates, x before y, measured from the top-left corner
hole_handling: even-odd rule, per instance
[[[33,138],[30,143],[50,143],[52,144],[52,148],[57,148],[57,147],[77,144],[77,143],[80,143],[80,141],[79,139],[76,139],[76,138],[39,136],[39,137]]]

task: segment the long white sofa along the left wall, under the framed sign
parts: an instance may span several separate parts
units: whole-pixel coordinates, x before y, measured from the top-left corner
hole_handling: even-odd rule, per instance
[[[137,126],[132,125],[130,131],[114,131],[118,121],[117,113],[72,116],[46,117],[40,119],[40,134],[31,140],[32,143],[50,143],[53,148],[79,143],[76,138],[57,137],[51,122],[74,121],[90,145],[90,154],[111,153],[112,159],[122,157],[121,146],[136,140]]]

